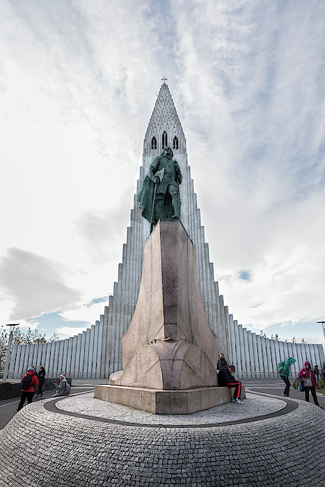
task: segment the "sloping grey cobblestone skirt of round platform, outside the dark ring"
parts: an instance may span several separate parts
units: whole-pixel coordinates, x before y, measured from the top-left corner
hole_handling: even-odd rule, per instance
[[[325,413],[294,402],[284,415],[200,428],[125,426],[30,404],[0,431],[0,486],[322,486]]]

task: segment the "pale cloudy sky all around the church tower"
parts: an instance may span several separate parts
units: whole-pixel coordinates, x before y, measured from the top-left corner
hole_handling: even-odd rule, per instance
[[[166,77],[229,312],[325,345],[325,2],[0,9],[0,324],[66,338],[103,314]]]

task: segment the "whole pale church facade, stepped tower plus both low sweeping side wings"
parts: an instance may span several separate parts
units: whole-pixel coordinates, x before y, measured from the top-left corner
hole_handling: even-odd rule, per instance
[[[127,330],[138,299],[141,284],[143,248],[150,234],[150,224],[138,209],[138,194],[153,159],[164,147],[173,150],[182,171],[180,185],[181,221],[196,249],[196,266],[200,295],[209,325],[218,340],[219,353],[236,367],[239,378],[276,377],[276,364],[292,356],[296,358],[292,374],[297,374],[303,362],[322,365],[324,349],[321,344],[294,344],[271,340],[243,328],[223,303],[218,282],[214,281],[214,266],[209,261],[209,246],[200,223],[196,193],[187,163],[187,145],[180,119],[166,83],[161,86],[143,143],[143,166],[134,195],[127,242],[123,246],[118,282],[104,314],[91,328],[58,342],[14,345],[8,378],[19,378],[29,365],[43,365],[48,377],[61,372],[72,378],[108,378],[122,369],[121,337]]]

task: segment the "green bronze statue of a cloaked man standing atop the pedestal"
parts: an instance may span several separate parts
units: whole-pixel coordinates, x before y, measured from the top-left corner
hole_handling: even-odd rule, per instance
[[[152,162],[138,195],[142,216],[151,223],[151,231],[161,218],[180,220],[180,189],[182,173],[173,161],[171,147],[165,147],[161,156]]]

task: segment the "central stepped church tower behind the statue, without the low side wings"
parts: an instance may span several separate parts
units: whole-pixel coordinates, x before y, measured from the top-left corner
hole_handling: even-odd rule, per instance
[[[143,248],[150,234],[150,225],[138,209],[138,195],[148,168],[164,147],[171,147],[174,159],[182,171],[180,184],[181,221],[196,249],[196,266],[200,295],[205,314],[214,333],[218,336],[223,353],[228,353],[228,318],[225,319],[223,298],[219,296],[218,283],[214,282],[213,264],[209,262],[209,246],[205,243],[204,227],[200,224],[200,210],[193,189],[191,170],[187,163],[187,143],[177,115],[171,92],[163,83],[143,141],[143,166],[140,168],[134,209],[127,229],[127,244],[123,247],[122,264],[113,296],[105,308],[102,341],[102,374],[122,368],[121,336],[132,319],[141,284]],[[228,317],[228,312],[227,312]],[[228,355],[229,356],[229,355]]]

